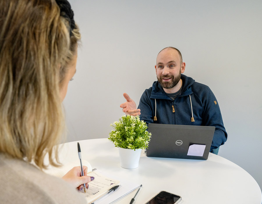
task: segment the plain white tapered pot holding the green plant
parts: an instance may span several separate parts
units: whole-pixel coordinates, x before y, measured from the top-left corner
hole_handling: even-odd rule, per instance
[[[128,169],[137,168],[141,150],[142,149],[136,149],[136,151],[134,151],[118,147],[121,167]]]

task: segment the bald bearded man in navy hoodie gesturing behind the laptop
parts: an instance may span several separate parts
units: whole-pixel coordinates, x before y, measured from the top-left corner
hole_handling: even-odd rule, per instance
[[[215,95],[206,85],[186,75],[185,62],[180,51],[173,47],[157,55],[155,72],[157,81],[141,96],[138,109],[124,93],[125,103],[120,105],[127,115],[140,115],[146,123],[215,126],[210,152],[218,153],[227,139],[222,115]]]

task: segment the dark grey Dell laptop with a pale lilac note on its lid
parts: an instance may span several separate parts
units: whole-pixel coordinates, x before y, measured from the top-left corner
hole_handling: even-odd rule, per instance
[[[206,160],[215,127],[149,123],[148,132],[148,157]]]

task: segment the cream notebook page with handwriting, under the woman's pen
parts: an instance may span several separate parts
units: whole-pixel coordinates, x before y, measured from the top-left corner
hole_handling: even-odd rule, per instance
[[[85,194],[87,198],[96,197],[96,195],[99,197],[119,183],[119,181],[107,178],[95,171],[88,173],[88,176],[95,177],[95,180],[88,183],[89,187]]]

